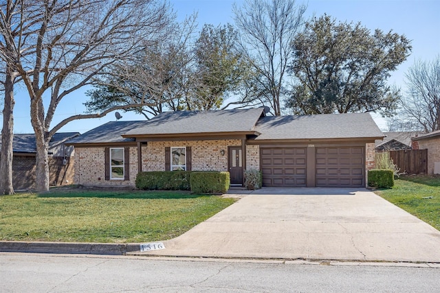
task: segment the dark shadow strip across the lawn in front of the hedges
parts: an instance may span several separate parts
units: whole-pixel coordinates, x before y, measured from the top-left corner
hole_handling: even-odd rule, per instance
[[[191,194],[190,191],[66,191],[52,190],[38,195],[39,198],[145,198],[145,199],[184,199],[200,198],[205,194]]]

